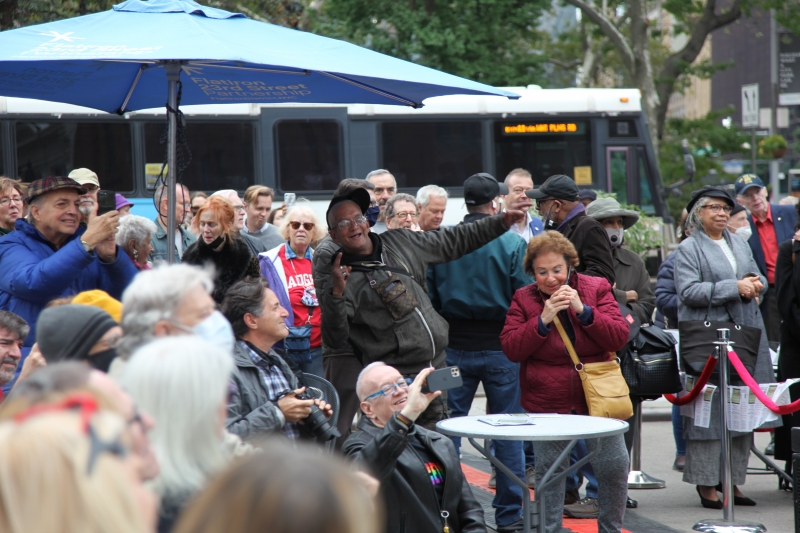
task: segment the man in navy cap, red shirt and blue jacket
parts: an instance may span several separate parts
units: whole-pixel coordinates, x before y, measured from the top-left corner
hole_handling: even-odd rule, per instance
[[[780,342],[781,318],[778,315],[778,299],[775,298],[775,262],[778,260],[778,245],[794,236],[797,213],[793,205],[771,204],[767,200],[767,188],[755,174],[743,174],[734,182],[736,201],[750,211],[747,220],[752,234],[748,243],[761,274],[767,277],[769,290],[761,302],[761,314],[770,342]]]

